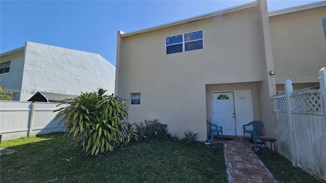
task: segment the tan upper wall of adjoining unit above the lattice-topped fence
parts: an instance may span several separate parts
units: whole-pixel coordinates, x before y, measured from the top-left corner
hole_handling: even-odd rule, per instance
[[[276,84],[318,82],[326,66],[326,6],[269,17]]]

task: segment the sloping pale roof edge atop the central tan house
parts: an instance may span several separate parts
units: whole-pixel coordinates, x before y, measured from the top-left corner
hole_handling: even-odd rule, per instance
[[[253,8],[253,7],[257,6],[258,4],[259,4],[259,1],[255,1],[255,2],[252,2],[252,3],[247,3],[247,4],[243,4],[243,5],[239,5],[239,6],[219,10],[219,11],[215,11],[215,12],[210,12],[210,13],[206,13],[206,14],[203,14],[203,15],[198,15],[198,16],[191,17],[191,18],[186,18],[186,19],[177,20],[177,21],[170,22],[170,23],[165,23],[165,24],[160,24],[160,25],[140,29],[138,31],[124,33],[124,34],[121,35],[121,37],[123,38],[123,37],[133,36],[133,35],[137,35],[137,34],[142,34],[142,33],[155,31],[157,29],[162,29],[162,28],[166,28],[166,27],[170,27],[170,26],[174,26],[174,25],[179,25],[179,24],[182,24],[182,23],[188,23],[188,22],[192,22],[192,21],[205,19],[205,18],[208,18],[208,17],[210,17],[210,16],[212,16],[213,14],[216,14],[216,13],[225,14],[225,13],[231,13],[231,12],[240,11],[240,10],[244,10],[244,9],[248,9],[248,8]]]

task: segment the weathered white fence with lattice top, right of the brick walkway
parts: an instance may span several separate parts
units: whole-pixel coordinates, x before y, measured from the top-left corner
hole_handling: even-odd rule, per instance
[[[320,89],[293,91],[285,81],[285,94],[274,96],[278,153],[326,181],[326,68],[319,71]]]

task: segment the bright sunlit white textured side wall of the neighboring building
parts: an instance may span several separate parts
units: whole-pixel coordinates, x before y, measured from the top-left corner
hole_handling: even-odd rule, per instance
[[[80,95],[102,87],[114,93],[115,67],[97,53],[26,42],[21,89]],[[20,101],[34,93],[23,93]]]

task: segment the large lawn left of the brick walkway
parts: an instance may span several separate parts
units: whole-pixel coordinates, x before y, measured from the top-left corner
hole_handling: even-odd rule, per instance
[[[88,156],[62,133],[2,141],[0,182],[228,182],[222,144],[129,144]],[[214,147],[219,153],[214,155]]]

